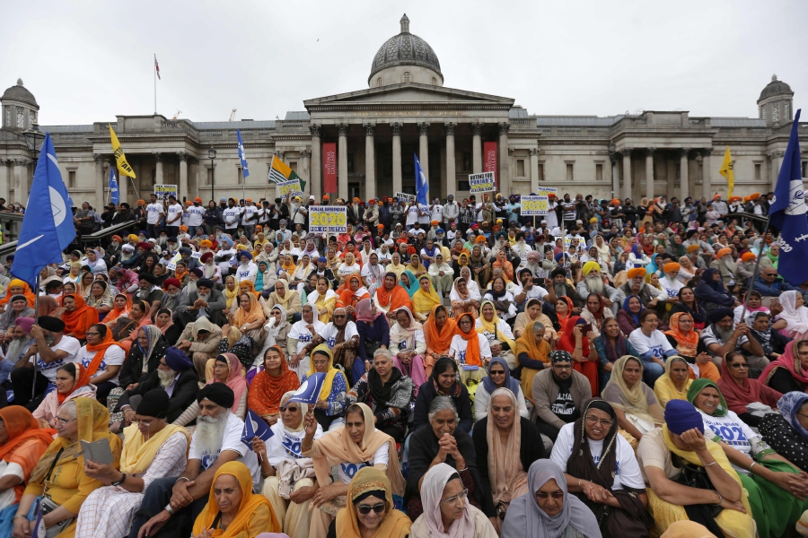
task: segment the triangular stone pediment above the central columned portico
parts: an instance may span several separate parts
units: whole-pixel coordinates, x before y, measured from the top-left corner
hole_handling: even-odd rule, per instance
[[[452,105],[452,108],[510,109],[514,100],[476,91],[457,90],[429,84],[406,82],[329,95],[318,99],[304,100],[303,105],[311,112],[357,108],[397,108],[417,104],[421,107]]]

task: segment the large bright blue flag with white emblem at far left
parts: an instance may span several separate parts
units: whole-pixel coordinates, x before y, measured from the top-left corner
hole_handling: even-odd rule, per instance
[[[20,239],[14,253],[12,274],[36,286],[37,275],[48,264],[62,263],[62,250],[75,239],[69,196],[50,134],[45,134],[40,161],[28,195],[28,208],[22,218]],[[48,211],[49,208],[49,211]]]

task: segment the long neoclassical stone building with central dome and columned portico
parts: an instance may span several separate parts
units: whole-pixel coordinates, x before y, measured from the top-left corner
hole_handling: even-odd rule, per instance
[[[146,198],[155,184],[176,184],[180,197],[257,200],[267,192],[273,154],[322,193],[323,143],[337,143],[338,195],[415,192],[413,154],[432,196],[468,194],[468,175],[483,171],[484,143],[496,147],[499,190],[528,194],[540,186],[561,193],[650,195],[725,193],[718,169],[729,145],[735,192],[773,188],[794,118],[794,92],[772,77],[760,93],[758,117],[690,117],[685,111],[646,110],[610,117],[530,114],[514,99],[444,86],[435,51],[400,21],[400,33],[373,56],[364,90],[303,101],[305,111],[284,119],[194,122],[156,116],[118,116],[78,126],[36,126],[40,107],[18,80],[0,97],[0,196],[26,203],[34,152],[23,132],[52,134],[66,185],[78,204],[106,200],[113,162],[111,123],[137,178],[121,182],[121,201]],[[111,118],[110,118],[111,119]],[[236,149],[241,129],[250,164],[242,183]],[[808,123],[800,126],[808,150]],[[215,161],[208,150],[216,151]],[[808,152],[803,153],[808,175]],[[653,180],[650,180],[653,178]],[[126,179],[126,178],[124,178]]]

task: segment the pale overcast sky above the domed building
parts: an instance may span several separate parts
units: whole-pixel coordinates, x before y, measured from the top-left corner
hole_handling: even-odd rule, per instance
[[[531,114],[757,117],[772,74],[795,108],[808,95],[803,0],[13,2],[0,19],[0,90],[22,78],[42,125],[149,115],[156,53],[160,114],[283,118],[305,99],[366,89],[405,12],[447,87]]]

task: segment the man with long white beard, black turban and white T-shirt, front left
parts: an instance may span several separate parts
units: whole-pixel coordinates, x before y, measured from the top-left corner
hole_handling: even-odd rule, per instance
[[[206,385],[197,395],[199,417],[188,453],[188,464],[179,477],[155,479],[145,490],[143,503],[130,536],[189,536],[194,521],[205,508],[219,467],[239,461],[252,474],[253,489],[261,490],[255,453],[242,443],[244,422],[231,412],[233,390],[224,383]]]

